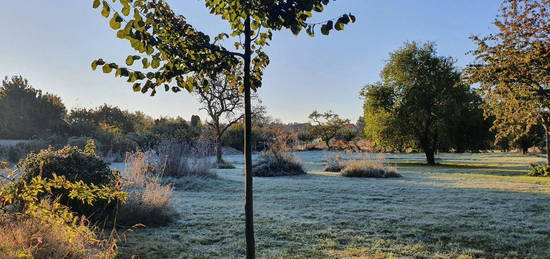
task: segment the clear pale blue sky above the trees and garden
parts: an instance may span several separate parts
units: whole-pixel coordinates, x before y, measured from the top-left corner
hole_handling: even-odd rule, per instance
[[[210,35],[228,32],[201,0],[169,0],[176,13]],[[494,32],[498,0],[339,0],[314,20],[352,12],[355,24],[330,36],[296,37],[277,32],[267,52],[259,95],[274,118],[305,122],[314,109],[333,110],[355,121],[361,115],[359,90],[379,79],[388,53],[405,41],[434,41],[440,55],[472,58],[469,36]],[[68,108],[103,103],[154,117],[189,118],[199,104],[187,92],[155,97],[136,94],[120,78],[91,71],[96,58],[122,63],[133,53],[115,37],[92,0],[10,0],[0,8],[0,76],[23,75],[39,89],[59,95]],[[229,43],[229,42],[228,42]],[[183,94],[182,94],[183,93]]]

